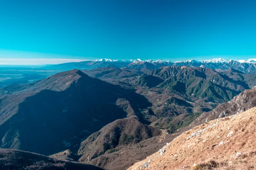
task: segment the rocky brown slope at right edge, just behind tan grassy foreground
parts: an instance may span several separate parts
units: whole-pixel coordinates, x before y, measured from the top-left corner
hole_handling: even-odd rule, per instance
[[[243,91],[232,100],[218,105],[212,111],[201,114],[190,126],[200,125],[210,120],[230,116],[256,106],[256,87]]]

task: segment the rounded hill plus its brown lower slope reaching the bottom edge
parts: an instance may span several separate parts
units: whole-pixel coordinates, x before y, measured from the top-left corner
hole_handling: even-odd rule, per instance
[[[143,125],[136,119],[118,119],[81,142],[79,161],[106,170],[126,170],[177,135],[163,133],[163,130]]]

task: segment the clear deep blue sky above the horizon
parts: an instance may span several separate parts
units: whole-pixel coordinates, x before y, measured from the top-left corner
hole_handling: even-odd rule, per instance
[[[255,0],[0,0],[0,63],[255,58],[255,11]]]

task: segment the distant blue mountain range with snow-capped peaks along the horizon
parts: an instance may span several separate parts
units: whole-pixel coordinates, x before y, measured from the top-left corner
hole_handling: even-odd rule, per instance
[[[227,70],[230,68],[236,69],[244,73],[256,73],[256,59],[240,59],[240,60],[226,60],[222,58],[207,59],[207,60],[195,60],[189,59],[185,61],[165,61],[163,59],[158,60],[143,60],[143,59],[96,59],[94,61],[84,62],[72,62],[64,63],[59,65],[53,65],[51,67],[70,70],[73,68],[77,69],[94,69],[99,67],[113,67],[113,68],[131,68],[131,69],[143,69],[153,70],[164,66],[187,66],[187,67],[201,67],[201,68],[212,68]]]

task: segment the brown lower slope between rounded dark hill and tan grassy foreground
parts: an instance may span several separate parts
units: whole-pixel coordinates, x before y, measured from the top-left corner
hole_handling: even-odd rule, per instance
[[[116,151],[113,153],[105,153],[88,163],[100,166],[105,170],[127,170],[132,164],[157,152],[166,142],[171,142],[179,134],[162,133],[160,136],[143,140],[137,144],[121,145],[116,147]]]

